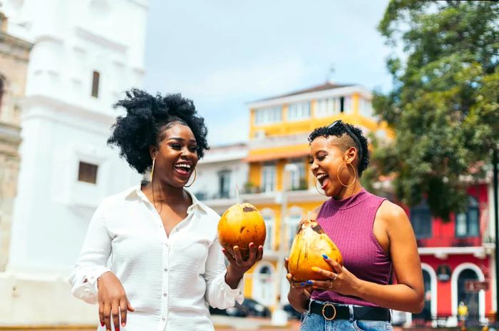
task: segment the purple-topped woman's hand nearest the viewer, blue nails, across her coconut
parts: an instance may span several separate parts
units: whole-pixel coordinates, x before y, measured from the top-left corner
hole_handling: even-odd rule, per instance
[[[334,291],[342,295],[356,295],[359,278],[346,270],[344,266],[339,265],[335,260],[325,257],[324,261],[331,265],[334,272],[317,267],[312,267],[312,271],[329,279],[308,280],[307,284],[312,285],[315,290]]]

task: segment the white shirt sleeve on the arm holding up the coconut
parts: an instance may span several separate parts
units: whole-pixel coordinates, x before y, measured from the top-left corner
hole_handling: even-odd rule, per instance
[[[227,268],[225,268],[222,246],[220,246],[218,239],[210,246],[205,267],[205,299],[210,306],[225,309],[234,307],[236,302],[241,304],[242,301],[245,300],[244,278],[240,280],[236,288],[231,288],[227,282],[225,282]]]

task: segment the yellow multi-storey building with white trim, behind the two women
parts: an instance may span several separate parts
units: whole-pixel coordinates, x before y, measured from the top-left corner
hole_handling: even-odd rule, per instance
[[[359,85],[324,83],[254,101],[249,112],[248,181],[242,200],[264,216],[267,240],[263,260],[245,276],[245,296],[276,307],[279,296],[280,303],[287,303],[283,260],[299,220],[326,200],[314,188],[309,170],[309,133],[341,119],[364,133],[386,136],[386,125],[374,116],[371,93]]]

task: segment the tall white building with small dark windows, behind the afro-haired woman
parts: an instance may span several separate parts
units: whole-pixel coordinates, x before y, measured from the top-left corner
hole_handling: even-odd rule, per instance
[[[98,203],[140,181],[106,145],[111,105],[144,76],[148,0],[4,0],[8,31],[34,44],[21,103],[21,165],[0,324],[98,322],[71,273]]]

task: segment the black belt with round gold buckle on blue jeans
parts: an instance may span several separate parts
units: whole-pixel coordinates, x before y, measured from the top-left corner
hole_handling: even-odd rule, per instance
[[[379,320],[390,322],[390,310],[381,307],[353,307],[354,320]],[[326,320],[349,320],[350,310],[348,306],[336,305],[332,302],[319,303],[312,300],[310,312],[322,315]]]

